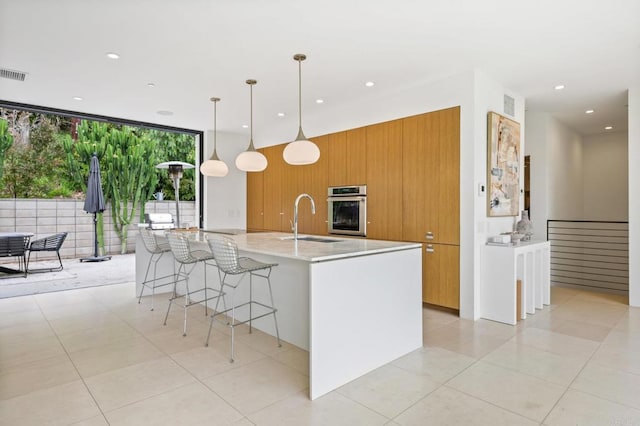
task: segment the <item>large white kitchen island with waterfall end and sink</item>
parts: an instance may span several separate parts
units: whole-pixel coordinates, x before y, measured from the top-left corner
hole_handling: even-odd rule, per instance
[[[193,247],[208,249],[206,235],[192,233]],[[311,399],[422,347],[420,244],[333,236],[294,241],[276,232],[227,236],[240,256],[278,263],[271,284],[280,338],[309,351]],[[138,292],[148,260],[138,237]],[[171,262],[163,261],[158,276],[171,270]],[[202,286],[202,270],[196,268],[190,286]],[[218,285],[214,271],[207,277]],[[248,287],[239,288],[247,297]],[[266,288],[255,285],[254,297],[265,300]],[[254,326],[275,335],[272,318]]]

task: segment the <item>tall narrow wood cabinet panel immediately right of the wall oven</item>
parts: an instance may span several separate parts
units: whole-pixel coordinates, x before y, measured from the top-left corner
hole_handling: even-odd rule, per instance
[[[402,121],[367,126],[367,237],[402,239]]]

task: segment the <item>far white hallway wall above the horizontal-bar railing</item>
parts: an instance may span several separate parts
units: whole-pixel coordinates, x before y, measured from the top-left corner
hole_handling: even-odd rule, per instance
[[[586,220],[628,219],[628,154],[627,132],[583,138],[583,211]]]

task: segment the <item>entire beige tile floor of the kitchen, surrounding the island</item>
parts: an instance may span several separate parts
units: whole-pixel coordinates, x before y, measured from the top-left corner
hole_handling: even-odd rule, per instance
[[[517,326],[425,309],[422,349],[310,401],[306,352],[244,330],[230,364],[203,310],[182,337],[133,291],[1,299],[0,424],[640,425],[640,309],[620,296],[555,287]]]

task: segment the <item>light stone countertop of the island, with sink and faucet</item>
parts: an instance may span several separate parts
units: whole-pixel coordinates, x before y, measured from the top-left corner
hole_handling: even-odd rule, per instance
[[[196,231],[191,233],[191,237],[193,237],[193,240],[197,243],[205,243],[205,238],[213,234],[214,233],[210,231]],[[420,243],[370,240],[366,238],[343,238],[333,235],[312,236],[326,240],[334,240],[332,242],[293,241],[293,234],[283,232],[238,233],[234,235],[226,234],[225,236],[234,239],[240,251],[306,262],[324,262],[421,247]],[[305,236],[307,235],[298,235],[299,238]]]

